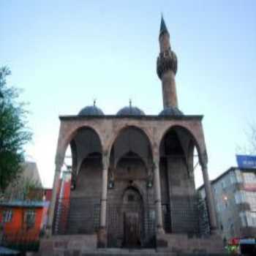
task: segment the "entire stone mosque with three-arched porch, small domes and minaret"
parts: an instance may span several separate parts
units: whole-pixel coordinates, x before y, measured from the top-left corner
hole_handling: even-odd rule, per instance
[[[146,115],[130,103],[116,115],[105,115],[94,104],[76,116],[60,116],[48,218],[52,239],[60,234],[69,239],[79,235],[85,241],[95,239],[97,248],[221,250],[203,116],[187,116],[178,108],[177,63],[162,18],[157,75],[162,82],[163,110],[159,115]],[[61,226],[56,218],[57,187],[68,146],[72,185]],[[195,150],[206,188],[210,229],[205,235],[197,207]]]

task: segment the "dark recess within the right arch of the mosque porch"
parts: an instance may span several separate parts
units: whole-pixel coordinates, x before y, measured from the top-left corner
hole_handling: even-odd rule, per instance
[[[162,203],[170,202],[170,217],[166,218],[170,225],[164,225],[173,233],[198,232],[195,181],[189,170],[193,170],[193,148],[201,154],[202,141],[193,131],[178,125],[165,129],[159,141]],[[187,215],[176,218],[182,212]]]

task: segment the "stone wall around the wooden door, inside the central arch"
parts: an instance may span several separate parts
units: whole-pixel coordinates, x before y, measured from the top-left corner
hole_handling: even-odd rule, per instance
[[[124,214],[127,211],[137,211],[140,215],[140,242],[143,246],[154,236],[154,189],[147,187],[147,173],[141,159],[129,157],[122,158],[113,170],[114,188],[108,189],[108,246],[123,246]],[[127,192],[134,199],[127,201]],[[139,208],[135,202],[138,197]]]

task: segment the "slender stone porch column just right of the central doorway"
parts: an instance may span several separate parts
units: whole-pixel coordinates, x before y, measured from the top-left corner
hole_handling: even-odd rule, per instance
[[[154,194],[156,206],[156,226],[157,233],[165,233],[162,225],[162,200],[161,200],[161,186],[159,176],[159,157],[154,157]]]

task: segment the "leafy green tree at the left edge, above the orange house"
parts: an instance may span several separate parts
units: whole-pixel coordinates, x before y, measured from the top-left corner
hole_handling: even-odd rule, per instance
[[[0,68],[0,194],[18,176],[24,161],[23,146],[31,140],[25,104],[20,91],[7,86],[7,67]]]

